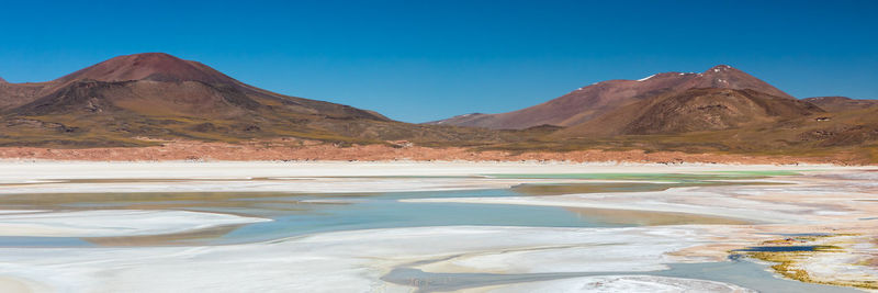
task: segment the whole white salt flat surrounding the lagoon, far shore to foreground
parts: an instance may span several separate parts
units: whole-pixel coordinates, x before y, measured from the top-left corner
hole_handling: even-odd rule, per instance
[[[807,176],[747,179],[747,185],[703,185],[664,191],[588,192],[542,196],[403,198],[406,204],[522,205],[661,211],[750,221],[744,224],[639,227],[534,227],[441,225],[306,234],[230,245],[183,244],[133,247],[5,247],[0,249],[0,289],[61,292],[412,292],[427,290],[394,279],[405,269],[424,275],[475,280],[448,284],[466,292],[747,292],[774,285],[770,274],[747,283],[695,275],[664,275],[674,263],[729,261],[729,250],[777,239],[785,233],[852,233],[846,252],[820,255],[806,267],[815,278],[876,278],[857,267],[873,251],[876,213],[873,172],[864,167],[743,165],[615,165],[560,162],[24,162],[0,164],[0,196],[15,203],[41,196],[136,192],[272,191],[381,193],[439,190],[505,190],[528,184],[582,184],[654,179],[581,180],[551,174],[713,173],[802,170]],[[544,178],[493,174],[545,174]],[[77,181],[78,180],[78,181]],[[725,179],[723,179],[725,180]],[[658,180],[662,181],[662,180]],[[731,180],[732,182],[735,180]],[[695,183],[697,184],[697,182]],[[474,193],[482,194],[482,193]],[[463,195],[463,196],[461,196]],[[210,196],[205,195],[205,196]],[[272,195],[275,196],[275,195]],[[368,195],[358,195],[368,196]],[[170,198],[168,198],[170,199]],[[188,199],[188,198],[187,198]],[[369,198],[296,200],[347,205]],[[390,198],[393,199],[393,198]],[[221,203],[240,199],[219,198]],[[195,202],[196,204],[198,202]],[[378,202],[375,204],[380,204]],[[134,203],[136,204],[136,203]],[[235,203],[237,204],[237,203]],[[261,203],[260,203],[261,204]],[[286,204],[281,199],[264,204]],[[153,210],[90,209],[92,202],[59,201],[44,209],[2,206],[0,236],[125,237],[173,235],[270,221],[244,210],[217,213],[196,205],[142,203]],[[229,205],[235,207],[237,205]],[[357,205],[350,205],[357,209]],[[37,206],[38,207],[38,206]],[[229,209],[230,209],[229,207]],[[65,210],[67,209],[67,210]],[[181,209],[181,210],[175,210]],[[311,213],[299,207],[275,213]],[[249,211],[249,210],[248,210]],[[318,210],[323,211],[323,210]],[[327,210],[328,211],[328,210]],[[446,211],[446,210],[442,210]],[[448,217],[454,217],[448,210]],[[402,211],[401,211],[402,212]],[[559,213],[571,213],[558,210]],[[632,214],[634,215],[634,214]],[[381,215],[375,215],[381,216]],[[520,214],[528,217],[528,214]],[[353,217],[346,221],[370,221]],[[164,237],[164,236],[162,236]],[[829,241],[829,240],[826,240]],[[97,244],[100,244],[99,241]],[[833,244],[841,245],[844,244]],[[764,268],[763,268],[764,269]],[[762,269],[758,269],[762,270]],[[682,273],[685,275],[685,273]],[[426,277],[425,277],[426,278]],[[496,278],[492,279],[492,278]],[[699,279],[707,278],[707,279]],[[743,277],[742,277],[743,278]],[[838,277],[842,278],[842,277]],[[518,280],[518,281],[497,281]],[[734,279],[732,279],[734,280]],[[477,281],[477,282],[476,282]],[[791,282],[791,281],[789,281]],[[793,282],[795,283],[795,282]],[[843,288],[784,283],[789,290],[845,292]],[[799,283],[800,284],[800,283]],[[780,291],[783,292],[783,291]]]

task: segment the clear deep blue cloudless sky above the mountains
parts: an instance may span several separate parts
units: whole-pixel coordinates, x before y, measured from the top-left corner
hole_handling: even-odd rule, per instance
[[[2,1],[0,77],[165,52],[275,92],[426,122],[728,64],[878,98],[878,1]]]

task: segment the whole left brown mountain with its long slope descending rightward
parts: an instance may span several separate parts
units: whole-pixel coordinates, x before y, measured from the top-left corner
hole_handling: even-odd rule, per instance
[[[499,139],[392,121],[259,89],[162,53],[119,56],[46,82],[0,83],[0,145],[136,146],[155,139],[325,142]],[[507,137],[513,137],[506,134]]]

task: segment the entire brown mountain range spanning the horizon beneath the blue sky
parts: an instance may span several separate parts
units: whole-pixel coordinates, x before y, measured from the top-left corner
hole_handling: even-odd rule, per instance
[[[622,150],[840,154],[833,156],[878,161],[878,108],[870,101],[797,100],[729,66],[608,80],[562,98],[543,103],[549,106],[526,109],[548,115],[525,115],[522,128],[462,127],[442,121],[409,124],[370,110],[259,89],[198,61],[135,54],[50,81],[0,82],[0,147],[49,151],[177,142],[210,144],[202,145],[207,148],[248,145],[247,151],[282,146],[301,148],[300,154],[314,151],[315,157],[371,145],[374,148],[361,149],[387,153],[364,157],[397,158],[407,153],[395,149],[416,146],[438,159],[460,159],[463,153],[443,157],[453,148],[471,151],[466,158],[488,158],[477,153],[495,151],[516,158],[545,158],[529,154],[547,153],[565,159],[567,151]],[[496,116],[472,113],[455,119],[492,123]],[[138,149],[124,151],[140,154]]]

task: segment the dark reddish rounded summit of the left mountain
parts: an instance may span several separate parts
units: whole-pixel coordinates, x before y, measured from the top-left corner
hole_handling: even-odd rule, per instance
[[[93,79],[99,81],[156,80],[223,83],[232,78],[195,61],[166,53],[123,55],[59,78],[61,81]]]

